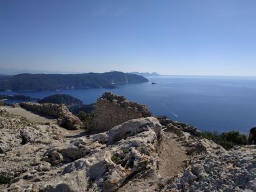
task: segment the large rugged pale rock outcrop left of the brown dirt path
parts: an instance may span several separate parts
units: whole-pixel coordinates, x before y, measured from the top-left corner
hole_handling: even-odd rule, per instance
[[[147,173],[144,179],[160,177],[160,137],[161,125],[149,117],[88,138],[52,143],[53,147],[42,149],[45,152],[40,160],[33,159],[26,170],[15,175],[8,190],[116,191],[138,173]]]

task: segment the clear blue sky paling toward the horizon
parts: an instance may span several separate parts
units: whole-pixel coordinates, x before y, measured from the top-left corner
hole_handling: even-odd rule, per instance
[[[0,68],[256,76],[255,61],[255,0],[0,1]]]

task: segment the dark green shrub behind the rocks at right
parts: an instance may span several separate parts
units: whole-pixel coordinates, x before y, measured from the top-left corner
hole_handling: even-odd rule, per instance
[[[236,145],[246,145],[246,135],[241,134],[239,131],[229,131],[218,134],[217,132],[204,131],[203,138],[212,140],[223,148],[229,150]]]

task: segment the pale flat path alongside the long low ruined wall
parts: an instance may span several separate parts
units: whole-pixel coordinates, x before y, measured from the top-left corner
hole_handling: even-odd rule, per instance
[[[38,115],[37,113],[33,113],[31,111],[27,111],[26,109],[23,108],[12,108],[10,106],[4,106],[2,108],[7,109],[10,111],[10,113],[13,113],[15,115],[23,116],[26,119],[30,120],[31,122],[36,122],[36,123],[57,123],[57,120],[54,118],[51,118],[49,116],[42,116]]]

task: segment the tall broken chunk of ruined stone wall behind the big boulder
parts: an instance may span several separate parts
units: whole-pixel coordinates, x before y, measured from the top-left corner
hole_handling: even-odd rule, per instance
[[[125,97],[110,92],[97,99],[93,128],[108,131],[116,125],[136,118],[151,116],[147,106],[130,102]]]

